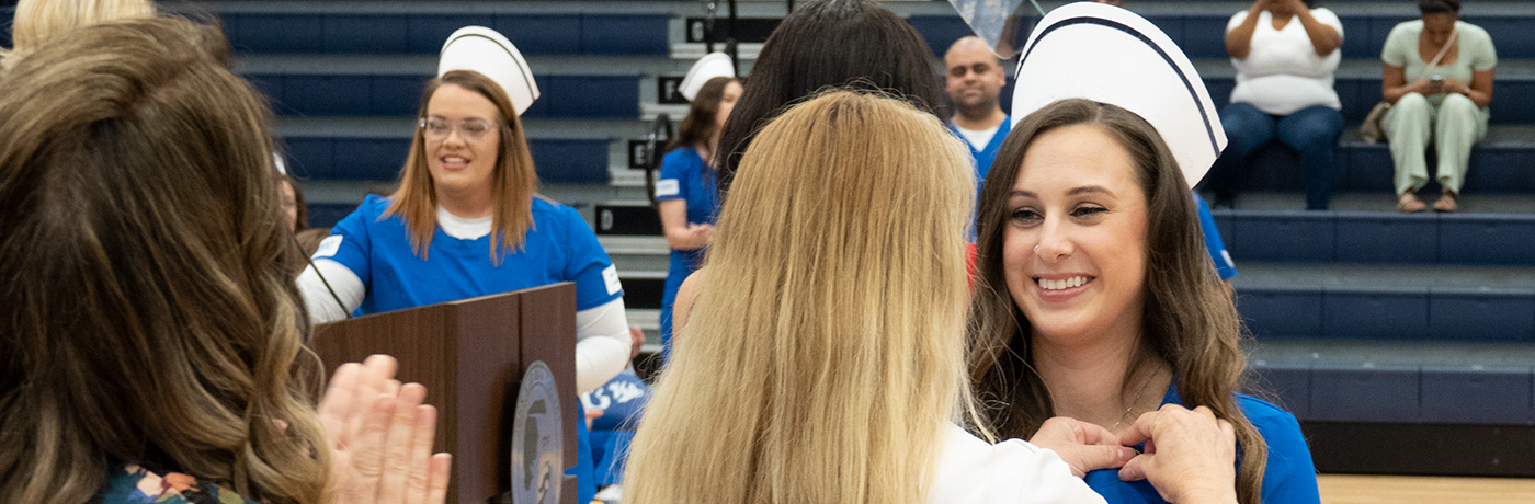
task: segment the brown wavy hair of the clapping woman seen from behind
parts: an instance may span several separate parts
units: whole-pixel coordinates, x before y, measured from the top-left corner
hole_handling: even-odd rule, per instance
[[[3,502],[84,502],[127,463],[325,492],[270,112],[195,37],[84,28],[0,80]]]

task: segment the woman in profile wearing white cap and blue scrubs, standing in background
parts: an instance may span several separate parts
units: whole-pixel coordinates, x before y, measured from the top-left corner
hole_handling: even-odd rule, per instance
[[[735,66],[723,52],[705,55],[688,70],[682,95],[688,98],[688,116],[682,130],[666,147],[662,176],[655,182],[662,230],[671,247],[666,290],[662,291],[662,355],[671,355],[672,305],[677,290],[703,262],[705,245],[714,236],[720,210],[720,191],[714,169],[714,153],[720,144],[720,129],[741,98],[741,83]]]

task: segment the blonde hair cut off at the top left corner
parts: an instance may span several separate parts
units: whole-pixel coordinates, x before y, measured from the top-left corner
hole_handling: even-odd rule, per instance
[[[43,46],[49,37],[92,25],[121,18],[155,15],[149,0],[21,0],[15,3],[11,21],[11,49],[0,52],[0,69]]]

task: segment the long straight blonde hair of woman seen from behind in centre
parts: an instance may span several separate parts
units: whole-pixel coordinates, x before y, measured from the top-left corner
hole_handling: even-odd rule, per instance
[[[741,162],[698,303],[629,458],[625,502],[921,502],[966,411],[959,142],[838,90]]]

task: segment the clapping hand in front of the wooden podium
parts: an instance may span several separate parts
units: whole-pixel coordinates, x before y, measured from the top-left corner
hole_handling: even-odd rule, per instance
[[[422,404],[427,389],[394,380],[393,357],[342,365],[319,403],[332,449],[328,502],[442,504],[448,453],[431,455],[437,411]]]

